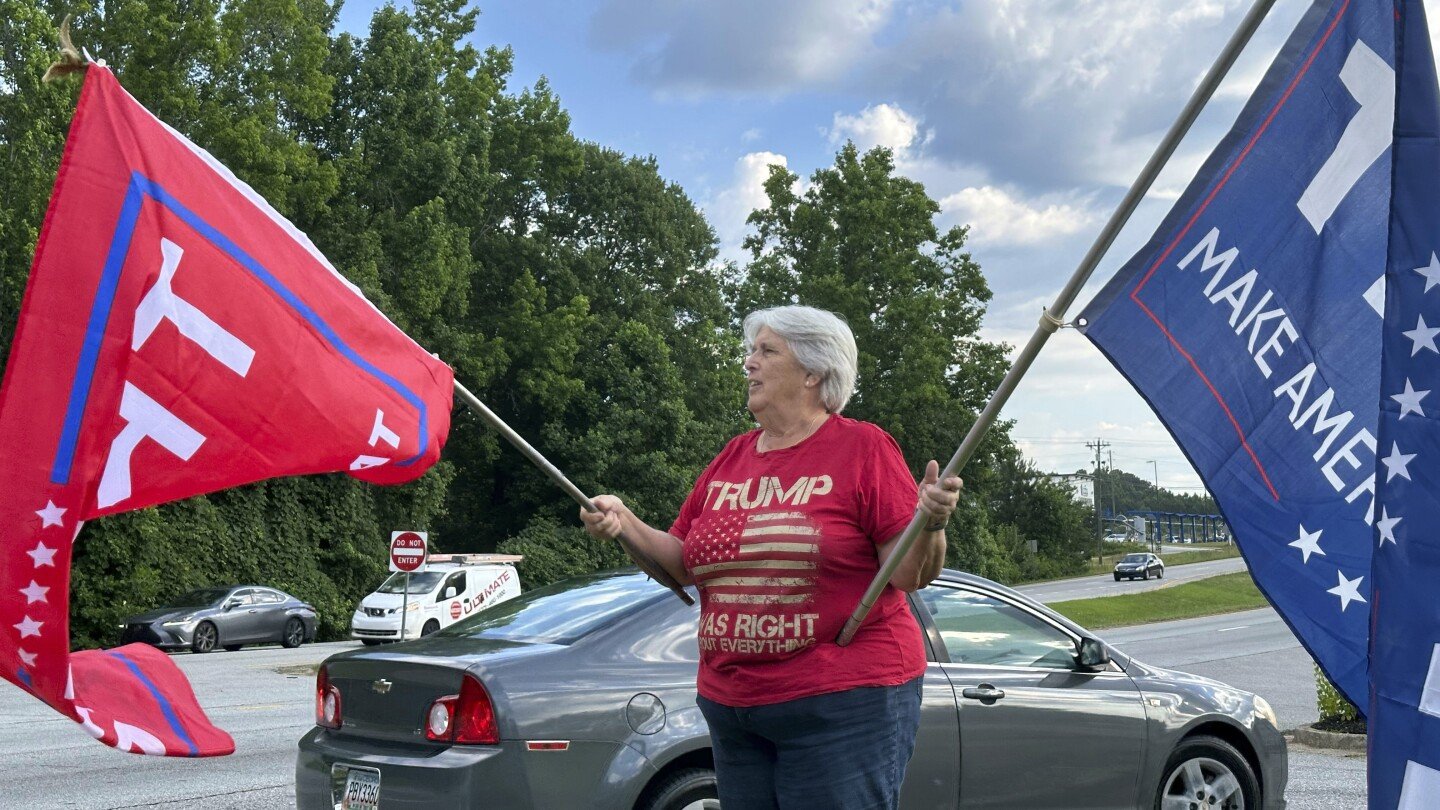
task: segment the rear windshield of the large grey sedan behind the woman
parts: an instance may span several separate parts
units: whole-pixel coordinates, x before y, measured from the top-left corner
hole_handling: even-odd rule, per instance
[[[438,634],[570,644],[665,594],[662,587],[642,574],[576,577],[520,594]]]

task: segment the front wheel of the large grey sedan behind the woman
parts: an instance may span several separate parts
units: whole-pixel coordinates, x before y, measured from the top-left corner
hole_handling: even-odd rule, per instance
[[[1165,762],[1156,810],[1260,807],[1260,783],[1250,762],[1218,736],[1191,736]]]

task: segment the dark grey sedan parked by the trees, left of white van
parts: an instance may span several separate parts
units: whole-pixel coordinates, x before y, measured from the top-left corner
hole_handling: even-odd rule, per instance
[[[216,647],[239,650],[245,644],[298,647],[315,640],[315,608],[295,597],[262,585],[200,588],[164,607],[125,620],[120,643],[144,641],[161,650]]]

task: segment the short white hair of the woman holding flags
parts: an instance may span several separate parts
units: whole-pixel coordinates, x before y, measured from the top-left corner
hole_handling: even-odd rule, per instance
[[[770,327],[791,347],[805,373],[821,379],[819,399],[831,414],[840,414],[855,391],[858,360],[855,334],[835,313],[815,307],[770,307],[744,316],[744,353],[755,349],[755,336]]]

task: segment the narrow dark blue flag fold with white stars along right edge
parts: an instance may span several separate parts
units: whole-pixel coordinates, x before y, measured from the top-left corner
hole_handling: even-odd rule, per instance
[[[1369,803],[1440,807],[1440,98],[1418,1],[1400,40],[1371,561]],[[1428,399],[1427,399],[1428,396]]]

